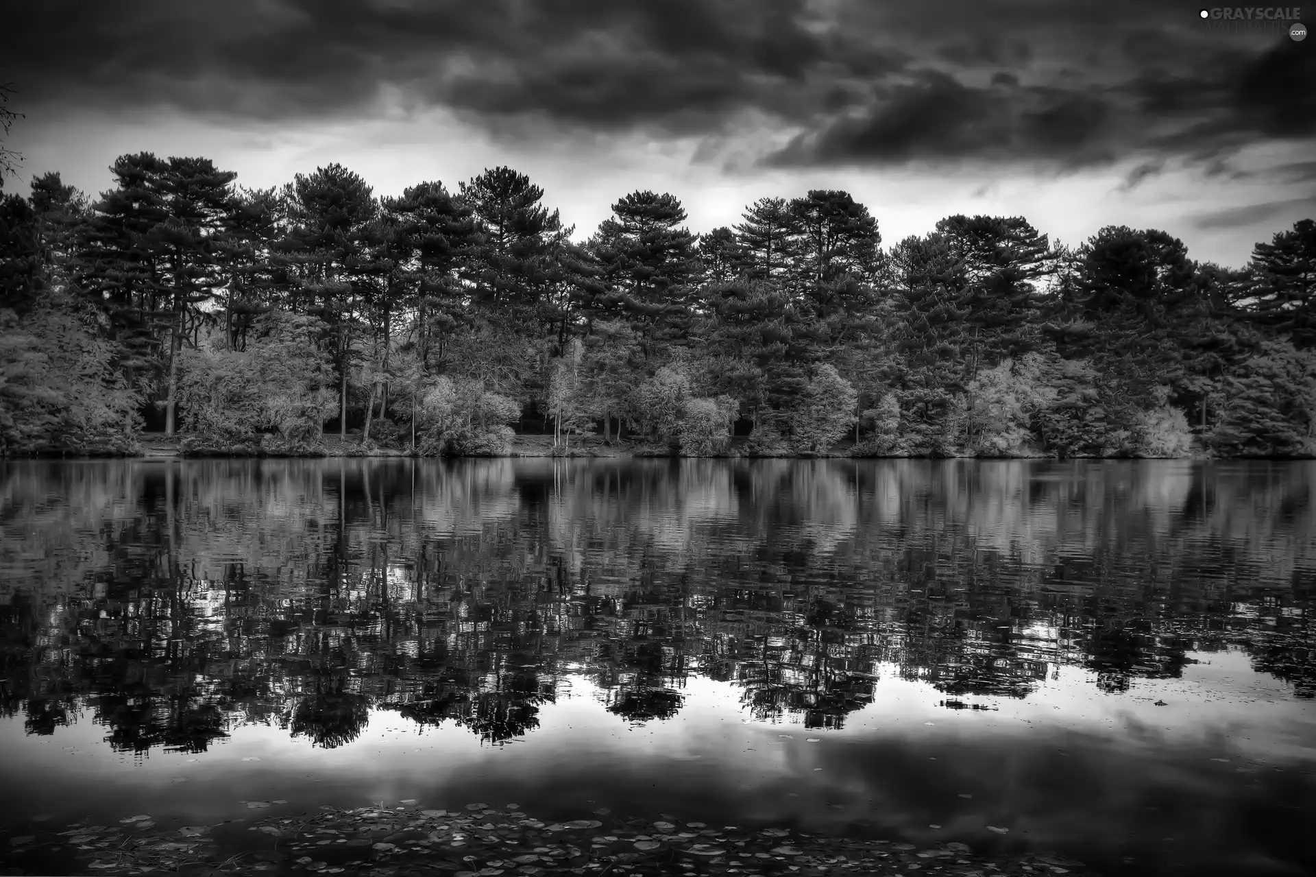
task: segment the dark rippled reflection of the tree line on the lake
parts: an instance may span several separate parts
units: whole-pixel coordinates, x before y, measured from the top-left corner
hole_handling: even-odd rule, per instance
[[[1124,693],[1241,648],[1316,694],[1311,464],[8,464],[0,715],[118,751],[372,710],[488,744],[574,677],[625,723],[692,678],[842,728],[882,672],[950,708],[1062,666]]]

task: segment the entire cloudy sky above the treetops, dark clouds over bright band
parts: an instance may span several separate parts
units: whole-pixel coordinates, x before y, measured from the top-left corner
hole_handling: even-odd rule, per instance
[[[124,153],[379,195],[512,166],[576,237],[636,190],[694,232],[840,188],[883,245],[955,213],[1242,266],[1316,216],[1316,40],[1165,0],[42,0],[0,26],[5,191]],[[1313,16],[1316,17],[1316,16]],[[1208,30],[1208,28],[1215,28]]]

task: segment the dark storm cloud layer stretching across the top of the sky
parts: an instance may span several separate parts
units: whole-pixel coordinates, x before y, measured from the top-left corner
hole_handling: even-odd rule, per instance
[[[1182,3],[47,0],[7,25],[0,79],[33,112],[317,119],[388,90],[503,132],[766,120],[795,132],[778,166],[1207,161],[1316,136],[1311,46],[1208,36]]]

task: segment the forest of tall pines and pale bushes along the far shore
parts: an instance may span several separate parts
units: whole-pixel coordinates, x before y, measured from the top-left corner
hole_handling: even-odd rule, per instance
[[[636,191],[588,236],[526,175],[379,196],[118,157],[0,198],[0,456],[1304,457],[1316,224],[1245,269],[1155,229],[1078,246],[949,216],[883,246],[844,191],[692,233]]]

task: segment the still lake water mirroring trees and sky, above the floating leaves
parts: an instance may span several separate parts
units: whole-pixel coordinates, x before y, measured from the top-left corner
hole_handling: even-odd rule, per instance
[[[5,464],[0,830],[507,801],[1303,873],[1313,486],[1309,462]]]

